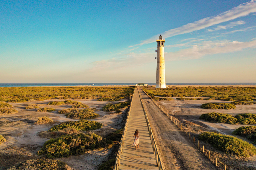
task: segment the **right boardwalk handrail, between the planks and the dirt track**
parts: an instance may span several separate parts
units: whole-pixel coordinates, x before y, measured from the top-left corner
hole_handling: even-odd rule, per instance
[[[153,150],[154,150],[154,154],[155,154],[156,165],[158,167],[158,170],[164,170],[163,163],[162,163],[162,160],[160,158],[159,151],[158,151],[158,148],[157,148],[157,145],[156,145],[156,141],[155,141],[155,138],[154,138],[154,135],[153,135],[150,123],[148,121],[148,116],[147,116],[146,110],[145,110],[145,108],[143,106],[143,103],[142,103],[142,100],[141,100],[140,92],[139,92],[139,97],[140,97],[141,106],[142,106],[142,109],[143,109],[143,112],[144,112],[144,115],[145,115],[145,118],[146,118],[146,122],[147,122],[147,126],[148,126],[148,131],[149,131],[149,136],[150,136],[151,144],[153,146]]]

